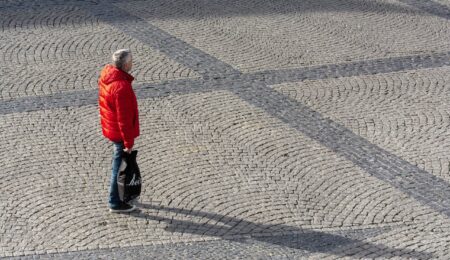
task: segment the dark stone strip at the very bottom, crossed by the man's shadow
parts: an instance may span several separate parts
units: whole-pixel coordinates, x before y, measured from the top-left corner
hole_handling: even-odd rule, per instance
[[[180,211],[180,209],[176,210]],[[380,245],[361,242],[364,239],[374,237],[391,230],[391,227],[327,232],[305,230],[301,233],[293,232],[291,234],[273,236],[229,237],[226,239],[212,241],[83,250],[77,252],[21,256],[11,259],[36,259],[36,257],[64,260],[86,258],[128,259],[130,254],[133,259],[149,259],[153,257],[157,259],[161,259],[163,257],[168,257],[169,259],[187,259],[192,255],[195,255],[196,259],[210,259],[212,256],[211,252],[215,252],[217,256],[233,256],[233,259],[265,259],[267,255],[278,257],[276,259],[292,259],[298,258],[299,256],[312,256],[313,253],[333,252],[338,250],[340,247],[354,244],[362,244],[371,250],[375,250],[377,252],[382,251],[386,255],[388,253],[397,253],[399,255],[407,254],[410,257],[414,256],[417,258],[429,258],[431,256],[426,253],[414,253],[410,250],[386,248]],[[336,254],[345,256],[345,252]]]

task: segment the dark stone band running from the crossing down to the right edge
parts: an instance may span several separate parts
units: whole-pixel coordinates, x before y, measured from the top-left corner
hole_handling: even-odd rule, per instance
[[[276,90],[253,86],[235,90],[235,94],[353,162],[371,176],[450,217],[450,184],[445,180],[370,143]]]

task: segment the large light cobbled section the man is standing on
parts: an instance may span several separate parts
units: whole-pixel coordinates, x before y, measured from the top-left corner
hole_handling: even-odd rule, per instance
[[[118,219],[114,216],[108,217],[105,215],[106,212],[103,213],[102,196],[93,198],[90,193],[86,193],[88,190],[91,192],[94,190],[95,193],[105,196],[107,185],[105,174],[101,174],[103,171],[107,172],[105,166],[101,166],[108,164],[108,153],[105,153],[109,150],[107,143],[102,141],[96,131],[79,131],[79,129],[95,129],[98,124],[95,107],[11,114],[8,118],[4,117],[6,121],[3,121],[1,125],[9,126],[5,128],[6,132],[10,132],[8,129],[18,129],[14,138],[10,136],[11,140],[3,140],[8,144],[7,147],[15,145],[17,153],[20,153],[22,149],[27,149],[29,151],[28,158],[34,158],[31,161],[27,158],[26,160],[29,162],[26,165],[15,163],[11,168],[6,169],[7,172],[23,173],[16,174],[15,178],[26,178],[32,180],[36,185],[27,192],[29,195],[16,202],[11,202],[12,204],[9,206],[19,209],[19,212],[14,214],[18,217],[15,223],[23,223],[25,219],[28,219],[27,225],[18,227],[28,237],[27,243],[23,245],[24,248],[37,249],[40,238],[48,237],[49,234],[53,234],[51,236],[54,238],[47,238],[42,244],[47,253],[53,252],[52,248],[76,250],[72,246],[85,250],[93,246],[121,247],[124,244],[131,246],[135,243],[133,237],[139,238],[139,243],[148,244],[152,241],[168,242],[169,238],[170,241],[187,242],[193,239],[209,240],[217,237],[228,239],[245,234],[252,236],[269,236],[270,234],[273,236],[298,230],[296,226],[299,224],[303,228],[343,227],[351,229],[364,224],[401,223],[406,220],[405,217],[408,215],[417,218],[420,218],[421,214],[434,216],[429,209],[422,208],[408,197],[383,185],[382,182],[367,179],[360,175],[362,172],[356,175],[352,174],[352,171],[357,170],[354,168],[351,171],[346,170],[352,167],[351,164],[338,160],[330,152],[318,152],[319,148],[312,149],[315,145],[308,145],[309,142],[295,131],[289,131],[278,120],[264,116],[263,111],[254,111],[239,101],[237,97],[231,98],[230,95],[227,92],[190,94],[168,99],[148,100],[142,104],[144,107],[142,113],[149,119],[143,122],[142,131],[143,133],[152,131],[152,134],[144,135],[146,137],[141,140],[142,145],[138,148],[143,154],[148,155],[140,160],[143,172],[152,173],[147,176],[148,186],[145,188],[143,201],[160,199],[162,202],[161,206],[154,203],[142,205],[144,210],[135,219],[129,219],[126,216]],[[227,100],[227,102],[224,103],[222,100]],[[192,110],[197,106],[205,109]],[[188,107],[191,109],[187,109]],[[237,116],[234,118],[233,114],[235,113]],[[164,116],[161,117],[162,115]],[[27,120],[31,121],[27,123]],[[21,127],[17,128],[12,122],[19,123],[18,125]],[[210,123],[205,124],[204,122]],[[74,127],[74,124],[77,127]],[[253,135],[255,127],[264,131]],[[56,129],[64,129],[64,131],[59,132]],[[213,134],[209,134],[209,132]],[[264,132],[268,135],[263,134]],[[54,155],[55,158],[58,158],[56,161],[51,160],[53,156],[50,159],[46,158],[48,153],[47,156],[46,154],[39,155],[39,146],[34,146],[30,141],[23,141],[30,140],[30,137],[33,136],[33,140],[39,144],[38,141],[42,140],[44,136],[48,136],[48,133],[52,133],[53,137],[47,141],[52,146],[47,145],[47,147],[50,150],[51,147],[60,147],[56,151],[62,149],[58,152],[62,154]],[[278,137],[274,139],[271,137],[272,135]],[[286,141],[280,139],[283,136]],[[68,143],[68,140],[91,140],[88,143],[97,143],[97,146],[95,151],[88,152],[85,142],[69,145],[71,141]],[[236,149],[237,144],[233,144],[233,142],[245,145]],[[257,145],[254,144],[255,142]],[[74,154],[77,156],[76,158],[64,155],[63,151],[71,146],[73,146],[73,150],[82,151]],[[104,149],[103,152],[98,150],[101,147]],[[296,152],[299,147],[303,147],[303,150]],[[289,157],[292,158],[292,161],[300,161],[303,167],[306,166],[305,172],[301,168],[292,170],[289,163],[279,165],[279,158],[283,158],[282,154],[286,153],[284,149],[291,150]],[[208,154],[205,154],[205,151],[208,151]],[[241,152],[237,153],[237,151]],[[275,151],[275,153],[271,151]],[[316,159],[318,161],[311,164],[308,162],[311,157],[307,156],[311,153],[322,154],[322,159]],[[98,157],[101,155],[104,156]],[[333,163],[334,160],[338,161]],[[156,161],[159,163],[155,164]],[[325,164],[325,166],[321,166],[321,164]],[[53,173],[52,169],[57,168],[58,165],[66,171]],[[89,167],[83,168],[83,165],[89,165]],[[264,169],[268,165],[272,165],[273,170],[266,173]],[[337,165],[340,165],[340,168]],[[97,173],[93,173],[94,175],[91,173],[92,167],[96,168]],[[80,169],[83,170],[80,172]],[[48,172],[48,180],[40,177],[42,171]],[[339,174],[336,175],[336,172]],[[303,174],[305,175],[300,177]],[[311,178],[314,175],[316,177]],[[11,177],[7,176],[14,175],[6,174],[6,179],[3,178],[10,183],[8,178]],[[73,178],[64,178],[67,176],[73,176]],[[92,179],[90,176],[96,177]],[[319,176],[323,177],[319,178]],[[303,184],[293,185],[295,192],[291,193],[287,183],[294,178]],[[358,187],[357,184],[348,181],[355,180],[355,178],[363,185]],[[23,189],[21,183],[26,184],[26,182],[19,181],[14,183],[18,186],[7,186],[9,196],[14,197],[18,191]],[[48,183],[46,189],[42,189],[42,185],[46,183]],[[73,186],[73,192],[78,195],[68,191],[67,185]],[[336,188],[329,188],[330,185]],[[377,193],[370,195],[371,189],[368,187],[372,187],[375,191],[379,185],[384,186],[381,188],[384,196],[380,197],[380,194]],[[258,192],[260,186],[267,187],[264,193]],[[362,191],[363,186],[366,187],[364,192]],[[206,190],[205,187],[208,189]],[[238,189],[235,189],[236,187]],[[343,193],[338,187],[344,187],[348,193]],[[329,194],[330,192],[331,194]],[[361,192],[367,195],[360,195]],[[53,195],[47,197],[46,194]],[[38,205],[23,204],[28,201],[28,196],[40,198],[40,203]],[[64,203],[75,196],[83,198],[81,201],[85,203],[76,201],[69,203],[68,206],[72,208],[72,213],[67,215],[65,213],[68,209]],[[342,199],[345,197],[348,199]],[[10,201],[9,198],[7,201]],[[336,203],[328,202],[327,198],[336,198]],[[370,205],[373,200],[378,200],[378,202]],[[253,201],[258,201],[258,203],[252,203]],[[217,203],[223,206],[218,206]],[[374,208],[380,203],[389,206]],[[408,204],[414,205],[414,210],[413,206],[405,207]],[[49,207],[50,205],[55,207]],[[83,205],[89,205],[89,211],[86,214],[83,214],[85,212]],[[173,205],[173,207],[169,208],[164,205]],[[300,206],[287,210],[287,205]],[[389,207],[390,210],[384,214],[380,222],[373,222],[370,218],[365,217],[365,215],[368,216],[367,213],[351,214],[358,210],[358,205],[365,205],[360,209],[361,213],[378,212],[377,214],[383,216],[383,213],[380,212],[381,209]],[[208,211],[216,213],[211,214],[208,211],[197,213],[195,210],[205,207],[209,209]],[[27,211],[24,211],[25,209]],[[292,213],[284,215],[286,213],[283,212],[286,211],[292,212],[294,215],[291,215]],[[5,217],[6,221],[12,221],[10,217]],[[305,219],[305,221],[302,223],[299,219]],[[307,221],[308,219],[313,221]],[[341,223],[339,219],[346,221]],[[124,220],[127,221],[123,222]],[[102,224],[105,221],[106,225]],[[162,225],[157,223],[162,223]],[[111,230],[122,233],[122,236],[119,236],[121,237],[120,241],[114,238],[117,233],[111,232]],[[447,233],[442,235],[445,234]],[[23,241],[21,234],[13,233],[12,235],[11,244],[17,243],[13,250],[23,250],[19,242]],[[59,244],[58,241],[65,242]]]

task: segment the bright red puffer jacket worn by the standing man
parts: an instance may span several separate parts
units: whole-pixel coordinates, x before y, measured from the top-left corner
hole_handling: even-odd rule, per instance
[[[131,149],[139,136],[139,115],[130,74],[106,65],[98,81],[103,135],[113,142],[124,142]]]

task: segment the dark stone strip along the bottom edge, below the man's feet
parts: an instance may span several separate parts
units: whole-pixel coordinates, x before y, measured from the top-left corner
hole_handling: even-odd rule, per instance
[[[388,231],[392,231],[392,228],[379,227],[329,232],[305,231],[303,233],[285,234],[275,237],[275,239],[278,240],[278,243],[270,246],[270,250],[272,254],[274,254],[275,251],[275,255],[278,254],[279,256],[284,255],[286,257],[289,257],[287,259],[299,256],[309,257],[312,255],[311,251],[333,252],[333,250],[339,249],[342,246],[350,245],[352,243],[361,243],[359,242],[360,240],[367,239],[368,237],[375,237],[380,233]],[[197,250],[205,251],[205,247],[214,251],[224,251],[223,254],[228,255],[233,252],[233,254],[236,254],[234,255],[235,257],[239,256],[241,259],[254,259],[256,253],[254,246],[264,246],[264,248],[267,248],[267,244],[271,244],[271,242],[266,240],[271,238],[271,236],[262,236],[254,240],[251,237],[230,237],[225,240],[196,241],[189,242],[189,244],[155,244],[149,246],[129,246],[111,249],[93,249],[73,252],[69,251],[52,254],[38,254],[33,256],[19,256],[11,259],[35,259],[36,256],[46,256],[51,257],[52,259],[84,259],[96,256],[108,256],[111,254],[113,254],[115,258],[121,259],[127,258],[130,252],[133,252],[134,257],[137,258],[161,258],[161,256],[167,254],[167,252],[170,252],[168,255],[170,255],[171,257],[183,259],[187,257],[187,255],[193,255]],[[224,243],[226,243],[225,249],[223,246]],[[294,245],[286,249],[284,246],[281,246],[284,243]],[[324,247],[327,249],[324,249]],[[372,248],[381,249],[376,246],[372,246]],[[395,249],[391,250],[395,251]],[[206,250],[205,252],[206,255],[207,251],[208,250]],[[260,252],[259,254],[261,255],[261,257],[264,255],[262,252]],[[198,257],[199,256],[200,255],[198,255]]]

